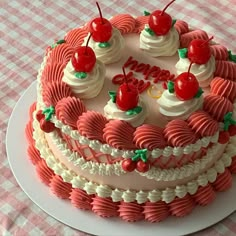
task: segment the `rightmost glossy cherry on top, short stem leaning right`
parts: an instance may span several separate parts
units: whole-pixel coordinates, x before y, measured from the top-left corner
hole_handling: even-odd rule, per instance
[[[193,39],[188,46],[188,58],[191,62],[196,64],[205,64],[211,57],[211,48],[209,41],[213,39],[213,36],[208,40]]]

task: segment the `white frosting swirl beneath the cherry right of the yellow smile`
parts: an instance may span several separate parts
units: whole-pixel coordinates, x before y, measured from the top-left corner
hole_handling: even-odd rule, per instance
[[[179,100],[174,93],[165,90],[157,102],[159,104],[160,113],[164,115],[167,120],[176,118],[186,119],[194,111],[202,107],[203,96],[183,101]]]

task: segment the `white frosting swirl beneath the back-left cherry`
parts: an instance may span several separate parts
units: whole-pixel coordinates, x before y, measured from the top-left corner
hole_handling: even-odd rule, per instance
[[[86,44],[89,35],[84,39],[83,45]],[[110,46],[102,48],[99,46],[100,43],[95,42],[92,38],[89,41],[89,46],[94,50],[97,59],[101,60],[104,64],[119,61],[123,54],[124,38],[118,29],[113,28],[112,36],[108,43]]]

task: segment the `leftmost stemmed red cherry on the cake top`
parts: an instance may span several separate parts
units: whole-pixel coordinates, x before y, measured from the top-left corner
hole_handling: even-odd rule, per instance
[[[96,63],[96,55],[88,46],[91,36],[90,34],[86,46],[79,47],[71,58],[71,63],[77,72],[90,72]]]

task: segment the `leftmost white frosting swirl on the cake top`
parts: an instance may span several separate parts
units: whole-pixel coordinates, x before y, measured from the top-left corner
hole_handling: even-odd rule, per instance
[[[97,59],[93,70],[87,73],[86,78],[80,79],[75,76],[76,71],[71,63],[68,62],[62,81],[68,84],[72,92],[82,99],[96,97],[104,84],[106,68],[104,64]]]

